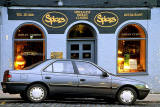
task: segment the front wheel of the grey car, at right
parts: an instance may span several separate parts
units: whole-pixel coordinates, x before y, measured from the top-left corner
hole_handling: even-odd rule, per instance
[[[131,105],[136,101],[137,93],[133,88],[124,87],[118,92],[117,98],[120,104]]]

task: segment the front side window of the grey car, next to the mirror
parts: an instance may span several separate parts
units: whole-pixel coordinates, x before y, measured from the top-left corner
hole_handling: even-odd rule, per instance
[[[98,69],[93,64],[87,62],[75,62],[79,71],[79,74],[82,75],[93,75],[100,76],[102,75],[102,71]]]

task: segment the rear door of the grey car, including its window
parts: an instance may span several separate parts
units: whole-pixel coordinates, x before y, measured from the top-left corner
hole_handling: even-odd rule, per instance
[[[43,78],[48,81],[53,93],[74,94],[78,77],[71,61],[55,61],[44,69]]]

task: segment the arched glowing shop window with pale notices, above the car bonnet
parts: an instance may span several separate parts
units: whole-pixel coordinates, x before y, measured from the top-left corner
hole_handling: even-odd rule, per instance
[[[146,72],[146,35],[137,24],[125,26],[118,38],[118,73]]]

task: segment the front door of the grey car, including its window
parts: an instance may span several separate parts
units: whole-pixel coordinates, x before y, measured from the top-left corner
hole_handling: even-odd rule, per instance
[[[111,77],[90,62],[75,61],[78,70],[79,91],[84,96],[106,96],[111,94]]]

